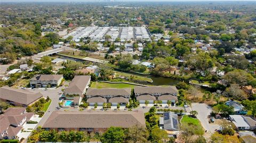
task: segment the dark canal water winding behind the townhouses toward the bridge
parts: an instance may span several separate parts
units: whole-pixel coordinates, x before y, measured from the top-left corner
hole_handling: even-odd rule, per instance
[[[68,60],[73,60],[73,61],[79,61],[79,62],[84,62],[84,60],[79,60],[77,58],[72,58],[72,57],[66,57],[66,56],[59,56],[59,55],[53,55],[54,57],[62,58],[62,59],[68,59]],[[118,71],[118,70],[116,70]],[[124,72],[124,71],[123,71]],[[172,78],[165,78],[165,77],[159,77],[155,75],[143,75],[143,74],[138,74],[138,73],[133,73],[133,72],[125,72],[141,77],[147,77],[153,80],[152,83],[148,82],[136,82],[142,85],[153,85],[153,86],[161,86],[161,85],[176,85],[178,82],[180,82],[177,79],[172,79]]]

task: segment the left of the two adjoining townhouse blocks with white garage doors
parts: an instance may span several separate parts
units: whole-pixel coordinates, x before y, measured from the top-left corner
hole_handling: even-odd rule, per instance
[[[102,106],[103,103],[111,103],[112,106],[126,106],[129,104],[129,98],[131,96],[131,88],[102,88],[94,89],[89,88],[86,92],[87,103],[93,106],[97,103]]]

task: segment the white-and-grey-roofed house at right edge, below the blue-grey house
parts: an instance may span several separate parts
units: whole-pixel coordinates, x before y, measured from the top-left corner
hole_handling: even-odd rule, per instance
[[[228,119],[233,122],[239,130],[255,130],[256,120],[250,116],[229,115]]]

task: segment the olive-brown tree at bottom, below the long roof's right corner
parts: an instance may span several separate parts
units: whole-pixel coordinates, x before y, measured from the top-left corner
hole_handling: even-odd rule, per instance
[[[126,132],[126,141],[130,143],[147,142],[149,133],[146,128],[134,125]]]

